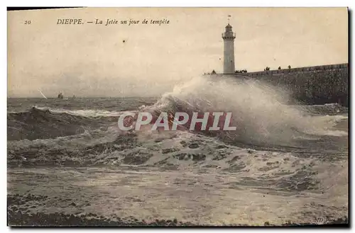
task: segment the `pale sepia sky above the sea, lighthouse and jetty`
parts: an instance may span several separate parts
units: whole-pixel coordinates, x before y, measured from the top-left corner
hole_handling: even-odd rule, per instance
[[[8,96],[160,96],[223,69],[222,32],[236,33],[236,69],[348,62],[347,8],[70,8],[8,12]],[[83,25],[57,25],[82,18]],[[141,24],[167,19],[168,25]],[[133,19],[137,25],[87,21]],[[31,21],[31,24],[24,24]]]

